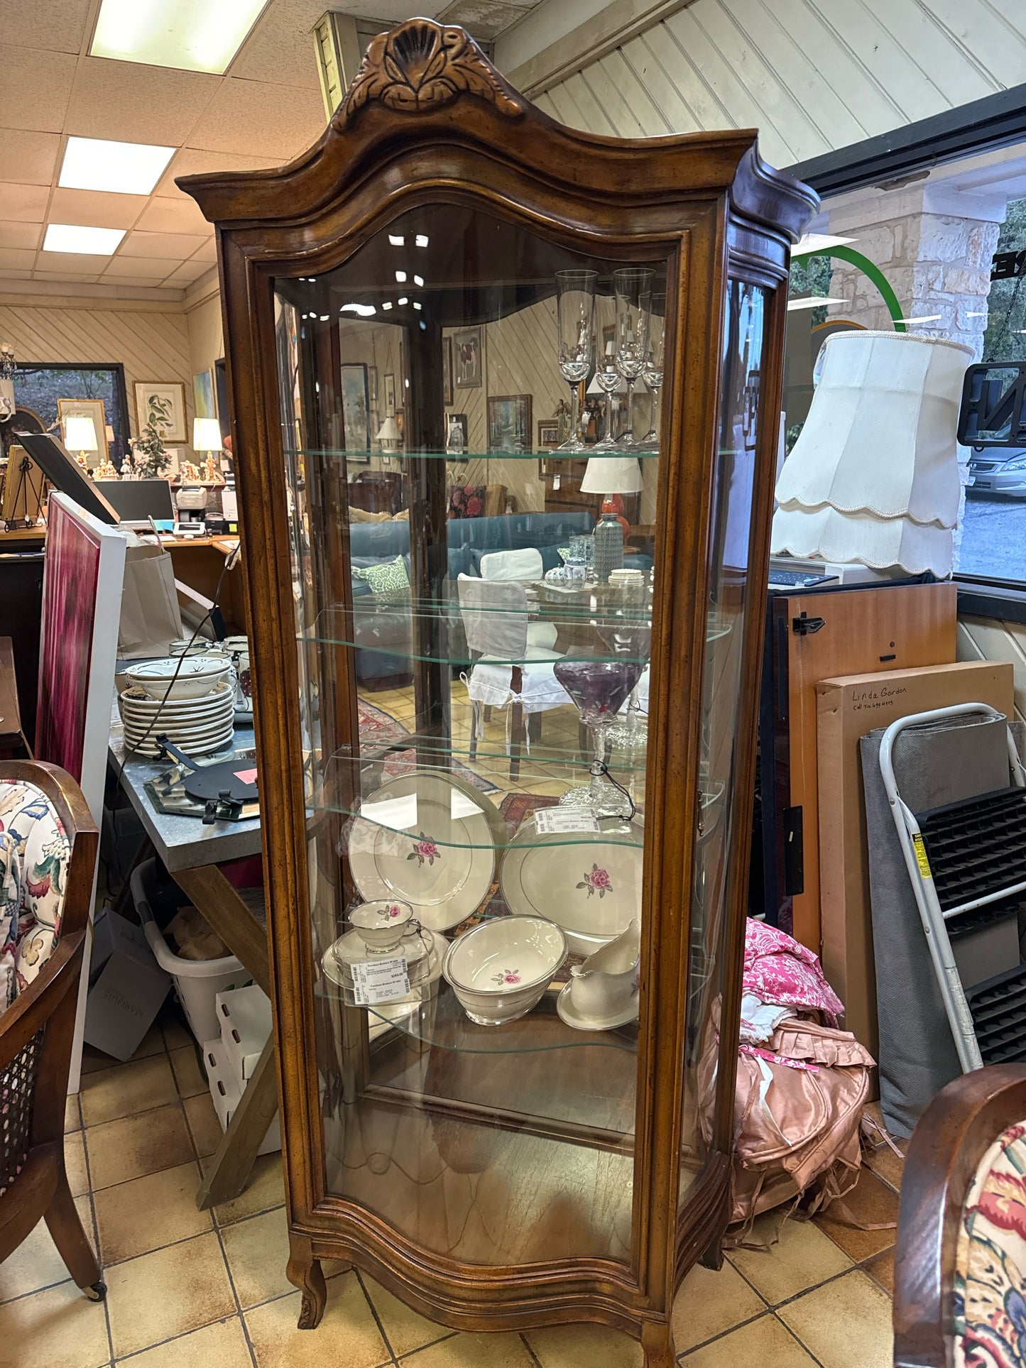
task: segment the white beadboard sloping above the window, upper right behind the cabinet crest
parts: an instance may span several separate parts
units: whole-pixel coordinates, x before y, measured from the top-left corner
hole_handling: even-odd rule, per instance
[[[625,138],[759,130],[774,166],[1026,82],[1026,0],[694,0],[529,92]]]

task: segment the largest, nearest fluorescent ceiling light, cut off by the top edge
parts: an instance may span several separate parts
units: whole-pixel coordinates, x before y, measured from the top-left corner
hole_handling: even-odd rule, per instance
[[[90,57],[223,75],[268,0],[103,0]]]

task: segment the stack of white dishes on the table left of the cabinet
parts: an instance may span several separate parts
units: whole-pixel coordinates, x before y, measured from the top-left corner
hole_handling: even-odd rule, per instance
[[[201,655],[170,663],[181,662],[187,668],[201,661],[211,663],[208,657]],[[157,668],[167,663],[148,662]],[[167,736],[187,755],[209,755],[227,746],[234,731],[235,687],[228,662],[222,658],[216,663],[222,669],[190,672],[187,676],[183,670],[174,684],[172,672],[161,676],[156,669],[142,674],[146,666],[133,666],[127,672],[131,684],[118,699],[129,750],[156,758],[160,755],[157,736]],[[187,692],[182,694],[182,688]]]

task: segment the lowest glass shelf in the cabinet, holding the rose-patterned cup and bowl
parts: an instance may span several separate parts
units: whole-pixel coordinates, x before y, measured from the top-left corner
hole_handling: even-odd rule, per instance
[[[428,996],[435,988],[438,992]],[[380,1003],[376,1007],[350,1010],[367,1012],[372,1042],[391,1027],[424,1045],[466,1055],[528,1055],[581,1047],[636,1053],[636,1021],[611,1030],[586,1031],[566,1026],[555,1011],[555,1000],[562,988],[564,984],[553,984],[536,1007],[505,1026],[479,1026],[472,1022],[445,978],[423,988],[420,990],[423,1000]],[[345,1001],[343,989],[323,971],[315,992],[319,997]]]

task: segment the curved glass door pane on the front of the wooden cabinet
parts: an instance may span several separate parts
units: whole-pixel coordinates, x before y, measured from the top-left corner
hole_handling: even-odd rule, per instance
[[[471,1263],[631,1256],[665,295],[453,205],[275,282],[327,1190]]]

